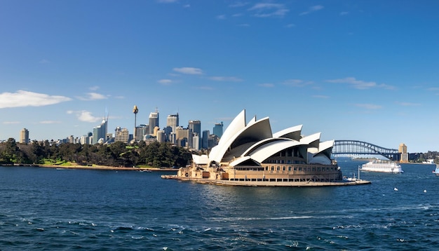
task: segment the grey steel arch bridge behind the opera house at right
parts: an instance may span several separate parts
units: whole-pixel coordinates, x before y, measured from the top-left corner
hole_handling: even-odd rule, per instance
[[[358,140],[335,140],[332,155],[335,157],[381,155],[393,161],[400,161],[398,149],[379,147],[376,144]]]

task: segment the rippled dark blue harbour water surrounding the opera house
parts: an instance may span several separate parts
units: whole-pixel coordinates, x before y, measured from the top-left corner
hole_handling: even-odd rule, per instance
[[[0,250],[439,250],[434,165],[403,170],[297,188],[0,167]]]

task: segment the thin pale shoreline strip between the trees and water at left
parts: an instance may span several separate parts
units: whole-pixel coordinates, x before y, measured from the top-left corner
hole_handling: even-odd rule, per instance
[[[169,172],[175,171],[178,169],[175,168],[127,168],[127,167],[116,167],[116,166],[107,166],[107,165],[48,165],[48,164],[14,164],[14,165],[4,165],[11,167],[34,167],[34,168],[57,168],[57,169],[79,169],[79,170],[123,170],[123,171],[147,171],[147,172]]]

